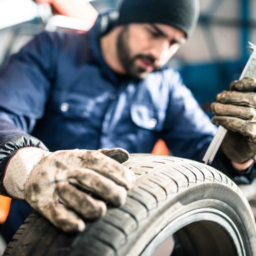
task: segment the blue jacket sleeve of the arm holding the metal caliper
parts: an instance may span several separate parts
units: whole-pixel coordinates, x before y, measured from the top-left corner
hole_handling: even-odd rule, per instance
[[[162,138],[173,155],[201,161],[200,152],[207,149],[216,126],[183,84],[179,73],[168,70],[164,76],[169,85],[169,103]]]

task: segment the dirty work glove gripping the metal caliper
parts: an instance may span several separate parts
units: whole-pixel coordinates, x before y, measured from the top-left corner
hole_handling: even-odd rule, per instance
[[[213,124],[228,132],[222,142],[225,155],[237,163],[256,158],[256,78],[246,77],[230,84],[230,91],[216,96],[210,107]]]

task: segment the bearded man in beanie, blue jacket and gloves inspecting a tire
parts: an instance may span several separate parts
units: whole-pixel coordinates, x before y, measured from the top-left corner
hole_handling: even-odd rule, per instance
[[[88,33],[44,32],[12,56],[0,72],[1,192],[76,232],[80,216],[106,213],[101,198],[125,203],[128,152],[162,138],[201,161],[216,127],[166,65],[198,13],[197,0],[124,0]],[[254,88],[253,78],[236,81],[212,105],[213,122],[229,129],[214,166],[244,184],[255,176]]]

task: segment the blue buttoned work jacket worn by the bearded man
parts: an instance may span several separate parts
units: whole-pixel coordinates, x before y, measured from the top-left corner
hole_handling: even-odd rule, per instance
[[[101,17],[86,33],[43,32],[10,58],[0,71],[0,144],[33,136],[50,151],[147,153],[162,138],[175,156],[201,160],[216,127],[179,73],[118,75],[102,56],[102,33]]]

